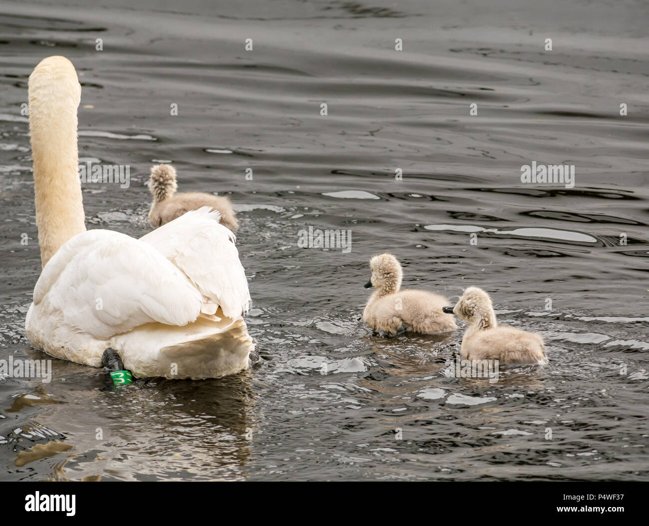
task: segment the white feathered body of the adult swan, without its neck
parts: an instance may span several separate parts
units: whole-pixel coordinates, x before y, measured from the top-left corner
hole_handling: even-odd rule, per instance
[[[199,378],[245,368],[248,282],[234,235],[218,220],[201,208],[140,239],[110,230],[76,235],[36,283],[25,324],[30,341],[95,366],[110,346],[135,376]],[[204,313],[217,317],[199,320]]]

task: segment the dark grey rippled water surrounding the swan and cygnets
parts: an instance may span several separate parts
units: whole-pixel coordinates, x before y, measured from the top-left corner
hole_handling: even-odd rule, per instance
[[[159,160],[181,191],[230,195],[265,359],[118,391],[56,359],[51,383],[0,377],[0,479],[649,478],[647,3],[65,4],[0,3],[0,359],[47,358],[23,330],[40,256],[20,105],[51,54],[80,75],[82,161],[130,165],[128,188],[84,184],[90,228],[149,232]],[[574,188],[522,184],[532,161],[574,165]],[[351,251],[299,248],[310,226]],[[550,365],[459,379],[464,325],[371,335],[385,251],[406,286],[490,291]]]

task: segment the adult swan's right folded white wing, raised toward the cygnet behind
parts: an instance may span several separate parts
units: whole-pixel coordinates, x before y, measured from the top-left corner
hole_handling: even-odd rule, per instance
[[[236,318],[250,307],[245,270],[236,238],[219,224],[219,213],[204,206],[140,238],[153,245],[191,280],[223,314]]]

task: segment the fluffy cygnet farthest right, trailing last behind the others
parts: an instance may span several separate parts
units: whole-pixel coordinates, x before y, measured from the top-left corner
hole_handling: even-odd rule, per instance
[[[498,360],[500,364],[546,363],[543,337],[513,327],[498,325],[489,294],[478,287],[465,289],[454,307],[445,313],[469,322],[460,354],[467,360]]]

